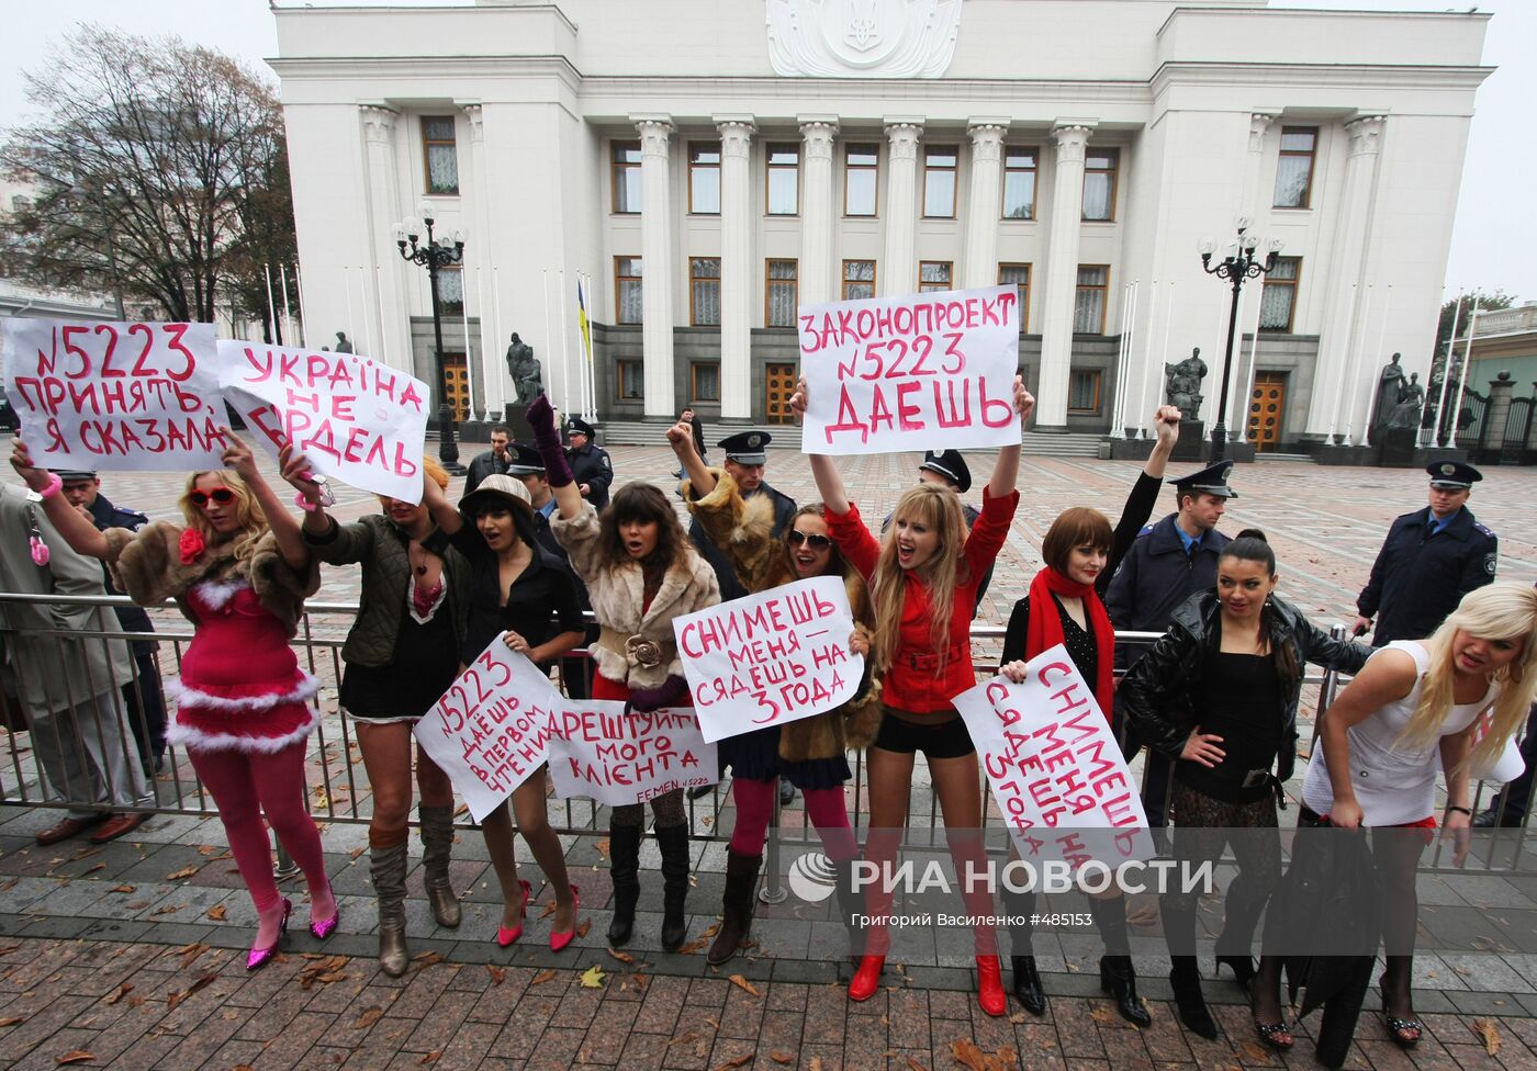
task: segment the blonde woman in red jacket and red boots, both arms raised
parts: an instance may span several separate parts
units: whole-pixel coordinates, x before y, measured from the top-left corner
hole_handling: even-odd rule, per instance
[[[1034,404],[1016,376],[1014,409],[1021,424]],[[804,380],[790,406],[804,416]],[[998,452],[993,476],[982,492],[982,515],[970,538],[956,493],[919,484],[898,499],[890,530],[876,541],[848,501],[833,459],[818,453],[810,458],[833,541],[870,582],[876,622],[870,655],[875,671],[885,678],[881,731],[865,753],[871,830],[865,859],[879,864],[882,874],[895,859],[907,824],[915,756],[922,751],[956,873],[964,876],[968,867],[981,873],[987,867],[981,773],[976,747],[951,701],[976,687],[971,667],[976,585],[998,558],[1014,519],[1019,444]],[[970,916],[994,914],[993,896],[985,888],[964,884],[962,897]],[[890,913],[891,891],[881,880],[868,885],[865,914],[873,925],[859,970],[848,983],[850,1000],[868,1000],[881,985],[881,968],[891,945],[884,923]],[[998,962],[998,937],[987,925],[978,925],[974,933],[978,1000],[982,1011],[1001,1016],[1008,999]]]

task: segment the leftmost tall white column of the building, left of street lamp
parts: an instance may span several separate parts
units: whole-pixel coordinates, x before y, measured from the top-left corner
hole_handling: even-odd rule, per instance
[[[415,375],[415,358],[410,352],[410,310],[406,307],[400,286],[403,261],[395,247],[395,224],[406,215],[400,200],[395,175],[395,120],[389,108],[360,104],[363,121],[364,175],[369,189],[369,240],[367,263],[360,264],[363,293],[373,309],[366,320],[369,337],[364,340],[369,356],[392,367]],[[417,270],[412,267],[410,270]],[[435,383],[437,375],[423,376]],[[433,386],[437,392],[440,387]],[[433,406],[433,413],[437,406]]]

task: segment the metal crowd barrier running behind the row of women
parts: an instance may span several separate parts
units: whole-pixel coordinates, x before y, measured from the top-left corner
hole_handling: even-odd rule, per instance
[[[94,607],[117,607],[131,605],[131,602],[123,596],[38,596],[38,595],[20,595],[0,592],[0,648],[8,647],[8,638],[20,633],[18,628],[9,624],[9,618],[5,612],[8,605],[14,604],[46,604],[46,605],[94,605]],[[352,721],[344,711],[340,710],[337,704],[337,695],[340,691],[341,682],[341,647],[347,636],[347,628],[352,618],[357,615],[357,604],[350,602],[309,602],[306,605],[304,615],[300,621],[298,635],[294,638],[294,645],[298,648],[300,664],[307,668],[312,675],[320,678],[321,690],[320,695],[312,701],[320,710],[320,724],[315,728],[315,747],[310,748],[307,756],[307,778],[306,784],[310,787],[310,793],[306,797],[310,814],[321,822],[357,822],[366,824],[370,817],[370,808],[366,805],[367,799],[367,779],[361,767],[361,758],[358,756],[358,745],[354,739]],[[181,618],[175,610],[174,602],[168,602],[161,610],[154,613],[157,622],[157,632],[152,639],[158,642],[157,664],[163,675],[174,675],[180,670],[181,658],[186,644],[192,639],[192,630],[189,622]],[[63,639],[71,645],[77,644],[109,644],[111,641],[144,641],[151,638],[148,633],[132,633],[115,628],[97,628],[97,630],[28,630],[29,636],[52,636]],[[1157,639],[1160,633],[1117,633],[1116,648],[1117,653],[1130,653],[1140,647],[1145,647]],[[1343,625],[1334,625],[1334,636],[1343,636]],[[1002,648],[1004,628],[1001,625],[973,625],[973,659],[979,667],[979,675],[991,675],[998,667],[999,653]],[[3,661],[3,659],[0,659]],[[108,659],[111,662],[111,659]],[[1130,664],[1131,659],[1122,659]],[[132,659],[131,659],[132,662]],[[135,696],[143,695],[143,682],[138,676],[138,665],[132,662],[134,671],[129,681],[112,681],[105,682],[109,690],[121,690]],[[75,705],[85,705],[86,701],[94,695],[100,695],[98,682],[94,681],[77,681],[72,679],[66,671],[68,667],[60,659],[60,665],[54,673],[54,682],[58,688],[63,688],[68,701]],[[1119,670],[1117,670],[1119,676]],[[1317,713],[1328,708],[1333,702],[1334,695],[1340,684],[1340,676],[1333,670],[1323,671],[1322,675],[1308,675],[1305,679],[1303,691],[1303,710],[1299,711],[1299,722],[1306,727],[1311,722],[1313,739],[1308,745],[1308,753],[1311,753],[1316,745],[1317,738]],[[1311,702],[1311,713],[1308,710],[1308,702]],[[132,708],[132,704],[121,704],[126,708]],[[168,702],[169,705],[169,702]],[[141,711],[143,707],[140,705]],[[168,710],[168,719],[172,716]],[[58,731],[58,719],[54,721],[54,731]],[[74,745],[80,747],[78,727],[74,724],[75,719],[65,719],[74,727],[77,739],[71,741]],[[126,713],[124,713],[126,721]],[[9,727],[11,731],[6,734],[5,741],[5,767],[0,770],[0,804],[5,805],[25,805],[25,807],[66,807],[71,805],[66,799],[54,797],[45,788],[45,778],[41,764],[37,758],[37,750],[23,744],[22,741],[28,736],[25,731],[25,715],[20,708],[18,699],[8,691],[8,688],[0,688],[0,722]],[[137,730],[140,733],[148,733],[148,727],[131,725],[129,730]],[[134,748],[132,731],[120,731],[117,736],[121,741],[121,747]],[[55,739],[55,745],[63,747],[65,741]],[[850,753],[850,767],[853,770],[853,807],[851,821],[858,830],[868,814],[868,785],[865,781],[864,761],[859,753]],[[1305,764],[1299,764],[1305,768]],[[148,771],[146,771],[148,773]],[[168,774],[168,776],[166,776]],[[1300,770],[1299,770],[1300,774]],[[913,785],[913,805],[908,813],[908,831],[910,836],[915,830],[928,830],[930,834],[942,828],[942,821],[938,813],[938,801],[934,794],[927,790],[925,773],[915,773]],[[217,807],[212,797],[204,791],[197,771],[184,754],[180,754],[175,748],[166,750],[164,771],[161,776],[149,778],[151,797],[140,804],[137,808],[124,807],[108,807],[100,805],[97,810],[143,810],[155,814],[194,814],[194,816],[214,816],[217,814]],[[60,787],[63,796],[71,796],[69,787]],[[1483,785],[1477,787],[1474,808],[1483,807],[1499,785]],[[696,837],[725,841],[727,833],[719,830],[719,813],[724,793],[712,793],[705,801],[689,801],[690,825]],[[998,808],[990,799],[987,785],[982,787],[982,813],[984,813],[984,828],[994,825],[1001,827]],[[702,804],[702,805],[701,805]],[[86,807],[81,804],[72,804],[75,807]],[[550,824],[561,834],[581,834],[581,833],[598,833],[607,828],[607,822],[603,816],[606,808],[587,799],[553,799],[550,801]],[[464,825],[467,822],[467,810],[460,808],[460,817]],[[778,819],[778,816],[776,816]],[[1522,828],[1525,830],[1529,821],[1529,804],[1528,813],[1522,819]],[[778,874],[781,873],[778,867],[778,856],[781,841],[785,844],[812,844],[815,833],[810,824],[804,821],[799,830],[785,828],[784,822],[773,822],[773,836],[767,845],[768,859],[765,871],[772,876],[770,887],[764,890],[765,897],[778,894]],[[796,836],[799,833],[799,836]],[[1525,859],[1523,851],[1515,851],[1512,862],[1502,868],[1509,868],[1519,865]],[[1492,864],[1489,864],[1492,867]],[[1432,868],[1437,864],[1432,860]],[[1532,867],[1537,873],[1537,867]]]

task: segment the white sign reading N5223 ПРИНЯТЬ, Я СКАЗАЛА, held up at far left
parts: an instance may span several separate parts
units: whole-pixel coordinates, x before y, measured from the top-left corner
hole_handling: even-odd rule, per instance
[[[5,393],[51,469],[218,469],[214,324],[6,318]]]

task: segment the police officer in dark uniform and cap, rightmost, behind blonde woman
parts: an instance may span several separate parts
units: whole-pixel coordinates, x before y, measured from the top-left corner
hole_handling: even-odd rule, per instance
[[[1393,522],[1356,599],[1357,636],[1377,618],[1373,647],[1429,636],[1463,595],[1494,581],[1499,539],[1468,509],[1483,473],[1462,461],[1432,461],[1425,472],[1431,478],[1429,507]]]

